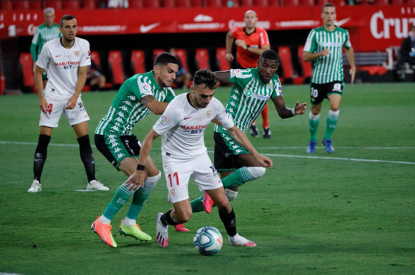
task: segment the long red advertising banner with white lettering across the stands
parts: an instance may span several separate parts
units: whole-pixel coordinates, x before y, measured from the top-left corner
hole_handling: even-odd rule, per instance
[[[244,26],[246,8],[104,9],[56,11],[57,20],[73,14],[78,34],[143,34],[227,32]],[[312,29],[322,25],[321,7],[255,8],[258,27],[267,30]],[[41,10],[1,11],[0,39],[31,36],[43,23]],[[400,45],[415,25],[415,6],[344,6],[337,9],[337,25],[347,28],[356,51],[385,50]],[[304,37],[305,40],[305,37]],[[289,45],[290,41],[283,44]]]

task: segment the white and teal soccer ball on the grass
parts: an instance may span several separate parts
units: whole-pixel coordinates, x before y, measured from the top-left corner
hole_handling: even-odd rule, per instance
[[[193,245],[202,255],[215,255],[222,248],[222,235],[212,226],[204,226],[196,231],[193,237]]]

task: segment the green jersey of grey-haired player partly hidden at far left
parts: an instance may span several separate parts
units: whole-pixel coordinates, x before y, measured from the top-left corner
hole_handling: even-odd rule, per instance
[[[32,54],[33,61],[36,62],[37,57],[39,56],[40,51],[46,42],[61,36],[62,34],[59,32],[58,24],[54,23],[52,27],[48,27],[45,23],[43,23],[37,27],[37,30],[34,33],[32,39],[32,46],[30,47],[30,54]]]

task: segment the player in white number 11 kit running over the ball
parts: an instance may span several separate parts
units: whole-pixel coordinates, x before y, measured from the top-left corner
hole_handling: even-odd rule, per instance
[[[161,118],[144,137],[137,171],[127,180],[126,185],[135,190],[142,187],[146,179],[144,171],[153,140],[163,135],[161,151],[166,176],[168,199],[174,209],[156,216],[156,237],[161,247],[168,246],[167,225],[185,223],[192,216],[188,195],[190,177],[198,184],[200,191],[212,197],[219,209],[231,245],[256,246],[252,241],[239,236],[236,230],[235,214],[225,195],[219,175],[210,161],[204,131],[213,120],[229,131],[240,144],[256,157],[263,167],[272,167],[268,157],[259,155],[247,137],[233,123],[222,103],[213,98],[217,77],[206,69],[195,73],[191,92],[176,96],[167,106]],[[263,168],[264,169],[264,168]]]

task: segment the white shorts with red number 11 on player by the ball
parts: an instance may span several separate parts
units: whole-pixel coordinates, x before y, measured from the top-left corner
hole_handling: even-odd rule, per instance
[[[168,189],[168,201],[175,203],[189,198],[189,179],[198,184],[200,191],[223,187],[222,181],[207,153],[188,162],[166,162],[163,160],[164,175]]]

